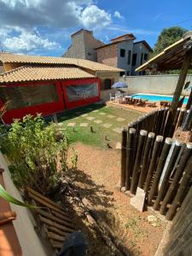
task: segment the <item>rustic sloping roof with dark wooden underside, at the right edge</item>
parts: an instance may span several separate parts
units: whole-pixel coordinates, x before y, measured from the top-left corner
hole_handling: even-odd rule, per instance
[[[186,51],[192,48],[192,32],[187,32],[182,39],[168,46],[159,55],[137,67],[136,71],[157,70],[166,71],[180,69],[183,64]],[[191,60],[192,62],[192,60]],[[192,65],[191,67],[192,68]]]

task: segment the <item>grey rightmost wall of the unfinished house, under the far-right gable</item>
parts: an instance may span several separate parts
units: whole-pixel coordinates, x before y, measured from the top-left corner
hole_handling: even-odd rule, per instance
[[[132,50],[132,53],[133,54],[137,54],[137,61],[136,61],[136,65],[135,66],[132,66],[132,69],[131,69],[131,76],[133,75],[139,75],[140,73],[139,72],[136,72],[135,69],[139,66],[141,66],[144,62],[146,62],[144,60],[144,54],[147,54],[148,57],[150,55],[150,52],[148,50],[148,48],[141,42],[141,43],[138,43],[138,44],[133,44],[133,50]],[[142,61],[142,64],[141,64],[141,56],[142,56],[142,53],[143,53],[143,61]]]

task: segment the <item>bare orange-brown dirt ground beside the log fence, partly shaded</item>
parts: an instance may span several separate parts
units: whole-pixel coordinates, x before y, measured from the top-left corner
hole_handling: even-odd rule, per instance
[[[138,212],[129,204],[130,198],[116,189],[119,182],[120,152],[117,149],[105,150],[81,143],[76,143],[74,148],[78,151],[78,170],[70,173],[70,176],[81,195],[89,199],[96,211],[112,226],[131,255],[154,256],[166,223],[159,219],[155,224],[149,223],[147,217],[152,215],[151,212]],[[79,214],[79,228],[83,230],[89,243],[88,254],[111,255],[86,219],[80,221]]]

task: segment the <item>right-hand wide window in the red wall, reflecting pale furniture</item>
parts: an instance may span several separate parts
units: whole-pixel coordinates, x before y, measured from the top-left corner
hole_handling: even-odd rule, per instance
[[[76,102],[99,95],[98,83],[67,85],[68,102]]]

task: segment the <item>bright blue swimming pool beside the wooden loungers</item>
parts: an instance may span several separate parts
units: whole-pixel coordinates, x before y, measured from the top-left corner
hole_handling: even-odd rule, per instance
[[[173,96],[166,96],[166,95],[158,95],[158,94],[145,94],[145,93],[137,93],[134,95],[131,95],[131,97],[135,99],[145,99],[150,102],[160,102],[160,101],[166,101],[166,102],[172,102]],[[189,97],[185,97],[183,104],[187,104]]]

